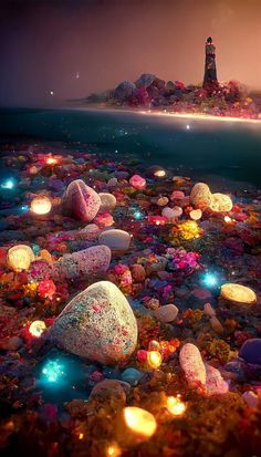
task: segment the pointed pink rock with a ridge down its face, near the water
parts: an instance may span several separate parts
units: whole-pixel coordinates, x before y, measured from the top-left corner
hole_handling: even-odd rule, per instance
[[[63,206],[71,216],[90,222],[100,209],[101,198],[83,180],[75,179],[70,183],[63,195]]]

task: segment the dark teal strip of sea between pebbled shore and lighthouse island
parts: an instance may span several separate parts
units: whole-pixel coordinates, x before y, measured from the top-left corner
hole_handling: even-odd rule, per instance
[[[217,189],[261,187],[261,123],[176,118],[106,110],[7,108],[0,142],[66,143],[132,154],[143,163],[208,180]]]

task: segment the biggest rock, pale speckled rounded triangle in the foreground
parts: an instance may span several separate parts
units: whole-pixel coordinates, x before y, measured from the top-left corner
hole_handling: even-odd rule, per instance
[[[137,344],[129,303],[109,281],[76,295],[54,322],[50,336],[64,350],[103,364],[124,364]]]

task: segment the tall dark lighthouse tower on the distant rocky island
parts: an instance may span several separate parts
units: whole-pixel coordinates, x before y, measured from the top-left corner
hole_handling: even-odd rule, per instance
[[[216,67],[216,46],[212,43],[211,37],[207,39],[205,44],[203,89],[208,92],[208,95],[211,95],[219,89]]]

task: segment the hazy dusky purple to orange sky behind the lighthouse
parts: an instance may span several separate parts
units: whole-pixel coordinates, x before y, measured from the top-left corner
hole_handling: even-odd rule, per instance
[[[208,35],[218,77],[261,87],[260,0],[9,0],[1,105],[81,97],[140,73],[198,83]],[[79,79],[76,73],[79,72]]]

